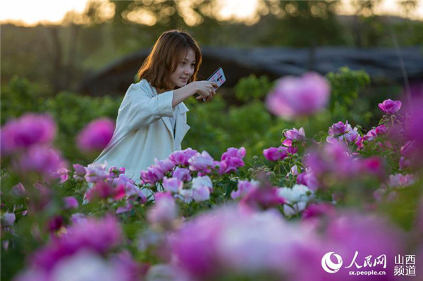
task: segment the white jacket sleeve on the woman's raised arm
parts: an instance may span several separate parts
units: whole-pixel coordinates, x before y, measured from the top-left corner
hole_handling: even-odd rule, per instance
[[[173,90],[153,97],[147,95],[140,88],[132,91],[128,104],[122,108],[127,111],[125,115],[129,131],[154,123],[164,116],[173,116]]]

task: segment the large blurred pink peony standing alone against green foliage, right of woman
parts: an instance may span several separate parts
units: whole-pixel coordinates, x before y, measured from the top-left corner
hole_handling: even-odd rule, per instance
[[[271,113],[285,119],[320,111],[329,101],[329,83],[317,73],[283,77],[266,98]]]

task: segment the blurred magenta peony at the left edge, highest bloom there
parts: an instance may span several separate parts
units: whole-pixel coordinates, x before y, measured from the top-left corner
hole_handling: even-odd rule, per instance
[[[1,128],[1,155],[13,154],[34,144],[49,144],[56,135],[56,123],[48,114],[27,113]]]

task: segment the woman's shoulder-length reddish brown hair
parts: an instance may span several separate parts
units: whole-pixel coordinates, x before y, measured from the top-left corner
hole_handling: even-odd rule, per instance
[[[180,30],[169,30],[160,35],[152,52],[138,70],[138,78],[147,80],[157,89],[171,89],[169,76],[176,70],[179,61],[185,58],[189,49],[195,53],[195,68],[188,83],[197,80],[198,68],[202,61],[200,47],[191,35]]]

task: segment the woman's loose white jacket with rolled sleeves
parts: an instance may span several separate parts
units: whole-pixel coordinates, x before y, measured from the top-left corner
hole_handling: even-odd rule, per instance
[[[181,102],[172,108],[173,90],[157,94],[156,88],[141,80],[131,84],[118,111],[113,137],[94,163],[125,167],[125,175],[140,182],[140,171],[180,150],[187,124],[188,108]],[[175,132],[169,117],[176,119]]]

